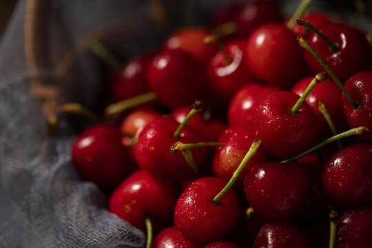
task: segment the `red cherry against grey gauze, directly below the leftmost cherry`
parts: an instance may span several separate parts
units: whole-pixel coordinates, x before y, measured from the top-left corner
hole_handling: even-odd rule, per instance
[[[154,229],[159,230],[172,223],[176,201],[176,189],[172,184],[139,170],[115,189],[110,196],[109,209],[143,231],[147,215]]]

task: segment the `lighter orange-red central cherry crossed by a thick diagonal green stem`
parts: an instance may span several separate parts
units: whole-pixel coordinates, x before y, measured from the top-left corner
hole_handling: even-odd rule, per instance
[[[251,143],[257,138],[251,125],[238,125],[232,127],[234,130],[228,140],[223,142],[225,145],[218,149],[213,161],[213,172],[218,178],[226,181],[230,180],[238,166],[240,165],[245,154],[247,154]],[[236,179],[234,187],[242,189],[244,179],[252,166],[257,163],[271,161],[272,158],[264,146],[260,147],[256,154],[248,161],[242,172]]]

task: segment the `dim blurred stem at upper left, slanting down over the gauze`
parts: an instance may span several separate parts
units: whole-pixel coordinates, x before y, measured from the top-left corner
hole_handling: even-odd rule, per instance
[[[121,63],[121,61],[117,59],[116,56],[114,56],[112,52],[110,52],[99,41],[96,41],[96,40],[92,41],[89,44],[89,49],[94,54],[96,54],[96,56],[98,56],[100,59],[105,61],[105,63],[109,65],[110,68],[112,68],[116,73],[120,73],[121,70],[123,69],[123,63]]]

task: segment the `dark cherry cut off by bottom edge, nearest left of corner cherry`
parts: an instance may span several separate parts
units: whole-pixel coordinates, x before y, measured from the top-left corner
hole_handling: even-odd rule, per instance
[[[266,223],[254,241],[253,248],[310,248],[300,227],[289,221]]]

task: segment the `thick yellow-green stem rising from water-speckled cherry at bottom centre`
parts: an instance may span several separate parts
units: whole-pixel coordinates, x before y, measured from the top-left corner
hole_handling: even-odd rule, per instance
[[[214,205],[218,205],[220,203],[220,200],[223,197],[223,195],[231,188],[232,185],[234,185],[236,179],[240,175],[240,172],[242,172],[242,169],[244,169],[245,165],[247,165],[251,157],[254,156],[254,154],[256,154],[257,150],[261,147],[261,145],[262,141],[260,141],[259,139],[255,139],[252,142],[249,151],[247,152],[247,154],[245,154],[245,157],[242,159],[242,162],[240,162],[240,165],[238,166],[234,174],[231,176],[231,179],[229,180],[227,185],[220,191],[220,193],[217,194],[217,196],[214,196],[214,198],[212,198],[211,202]]]

